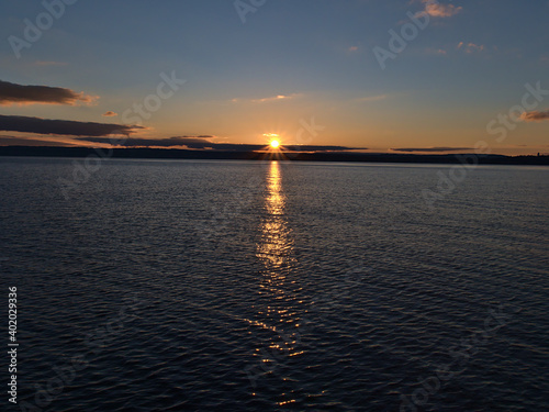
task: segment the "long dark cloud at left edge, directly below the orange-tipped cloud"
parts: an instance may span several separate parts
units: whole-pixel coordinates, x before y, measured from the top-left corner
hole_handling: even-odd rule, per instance
[[[71,136],[109,136],[110,134],[123,134],[128,136],[131,133],[136,132],[137,129],[145,127],[0,114],[0,131],[8,132],[58,134]]]

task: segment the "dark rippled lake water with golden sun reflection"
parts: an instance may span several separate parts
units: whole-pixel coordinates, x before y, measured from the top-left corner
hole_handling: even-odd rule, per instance
[[[74,162],[0,158],[10,410],[549,410],[549,168]]]

